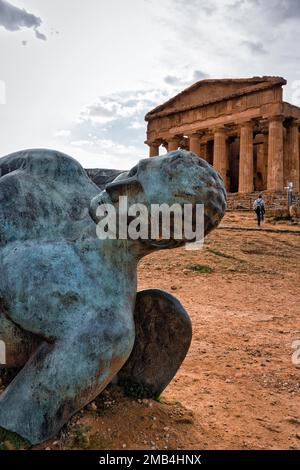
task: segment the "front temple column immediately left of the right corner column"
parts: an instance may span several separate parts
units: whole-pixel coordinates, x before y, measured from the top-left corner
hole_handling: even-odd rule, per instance
[[[245,122],[240,129],[239,193],[253,191],[253,123]]]

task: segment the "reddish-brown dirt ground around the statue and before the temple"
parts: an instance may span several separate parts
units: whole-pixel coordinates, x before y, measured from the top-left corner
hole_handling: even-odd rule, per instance
[[[111,387],[38,448],[300,449],[300,226],[252,228],[252,213],[229,212],[203,250],[142,261],[139,289],[191,316],[183,365],[159,402]]]

